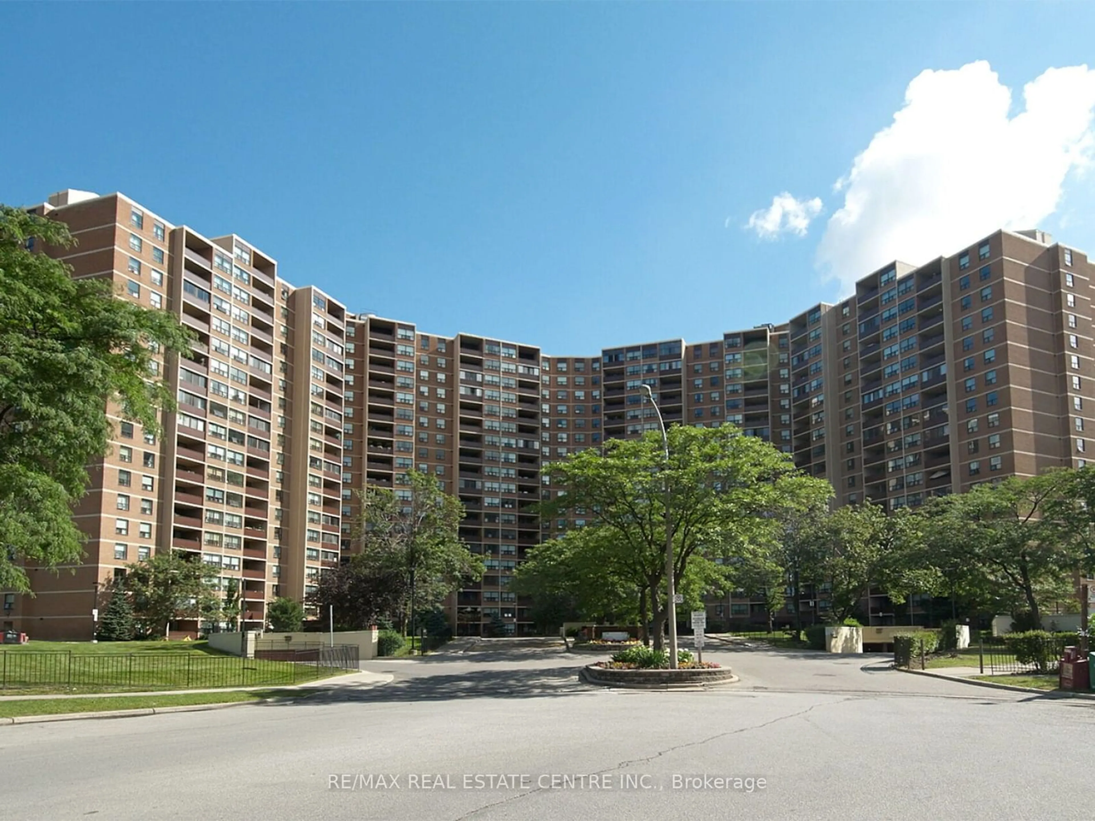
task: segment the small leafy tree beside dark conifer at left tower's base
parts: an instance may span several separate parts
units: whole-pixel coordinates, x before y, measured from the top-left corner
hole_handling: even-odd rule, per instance
[[[210,617],[219,611],[220,597],[210,587],[217,577],[215,568],[173,551],[127,565],[123,589],[141,632],[168,636],[172,622]]]

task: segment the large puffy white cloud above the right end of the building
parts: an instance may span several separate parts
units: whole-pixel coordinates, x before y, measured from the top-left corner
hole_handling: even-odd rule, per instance
[[[891,259],[924,263],[1053,213],[1067,177],[1091,163],[1095,70],[1048,69],[1023,99],[1008,116],[1011,90],[983,61],[921,72],[833,186],[844,205],[818,247],[822,273],[846,292]]]

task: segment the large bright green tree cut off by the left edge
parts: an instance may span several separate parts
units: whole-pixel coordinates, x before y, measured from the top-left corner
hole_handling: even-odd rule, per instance
[[[23,562],[82,559],[71,506],[88,464],[108,451],[107,408],[154,431],[172,396],[152,378],[153,348],[187,348],[188,332],[168,312],[115,299],[111,282],[72,279],[37,253],[73,244],[64,223],[0,206],[2,590],[30,590]]]

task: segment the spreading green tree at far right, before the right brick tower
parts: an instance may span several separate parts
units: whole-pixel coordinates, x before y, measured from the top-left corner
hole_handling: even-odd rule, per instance
[[[1072,575],[1088,557],[1076,493],[1075,472],[1060,470],[934,499],[925,527],[936,566],[973,589],[998,588],[1040,628],[1042,603],[1074,595]]]

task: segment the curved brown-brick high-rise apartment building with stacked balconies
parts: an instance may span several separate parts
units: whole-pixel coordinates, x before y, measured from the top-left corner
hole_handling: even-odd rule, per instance
[[[89,638],[101,591],[126,564],[183,550],[237,586],[244,626],[276,595],[303,598],[354,550],[359,492],[406,493],[411,469],[463,502],[481,583],[450,605],[461,634],[532,631],[514,569],[543,539],[543,469],[667,424],[733,424],[827,478],[837,504],[894,510],[979,482],[1082,466],[1095,425],[1095,266],[1038,231],[998,231],[919,267],[892,263],[855,293],[779,325],[549,356],[532,344],[425,334],[354,314],[289,285],[273,257],[205,238],[131,199],[56,194],[35,209],[79,245],[45,250],[119,299],[173,312],[191,358],[159,365],[177,409],[153,437],[117,415],[111,453],[73,511],[87,559],[28,567],[35,597],[5,592],[0,623],[37,638]],[[308,273],[292,273],[307,277]],[[744,591],[742,591],[744,594]],[[872,595],[885,621],[885,597]],[[731,595],[715,621],[763,622]],[[823,615],[823,591],[787,590],[787,613]],[[180,623],[194,634],[211,625]]]

